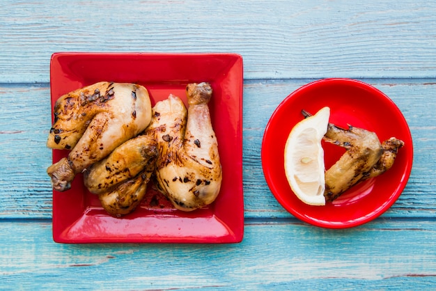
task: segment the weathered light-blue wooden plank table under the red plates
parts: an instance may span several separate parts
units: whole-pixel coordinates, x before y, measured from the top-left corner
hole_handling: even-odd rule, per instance
[[[335,290],[436,285],[436,2],[0,3],[0,289]],[[240,244],[56,244],[46,173],[54,52],[233,52],[244,58]],[[345,230],[295,219],[267,187],[265,125],[304,84],[380,89],[410,125],[414,166],[381,217]]]

